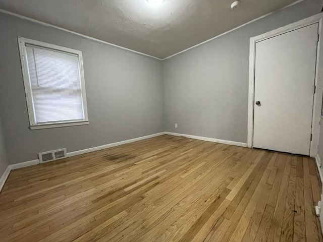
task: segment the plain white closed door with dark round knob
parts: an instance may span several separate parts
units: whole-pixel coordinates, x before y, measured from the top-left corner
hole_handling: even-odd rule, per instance
[[[309,155],[317,35],[315,23],[256,43],[253,147]]]

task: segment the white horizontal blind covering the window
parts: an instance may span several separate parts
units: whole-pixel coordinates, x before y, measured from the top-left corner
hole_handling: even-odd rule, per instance
[[[35,125],[85,120],[79,56],[25,46]]]

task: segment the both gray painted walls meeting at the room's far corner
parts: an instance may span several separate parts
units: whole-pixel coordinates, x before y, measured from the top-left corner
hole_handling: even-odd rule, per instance
[[[0,14],[0,118],[9,163],[163,131],[245,143],[250,37],[320,8],[320,0],[306,0],[164,62]],[[29,129],[17,36],[83,52],[89,125]]]

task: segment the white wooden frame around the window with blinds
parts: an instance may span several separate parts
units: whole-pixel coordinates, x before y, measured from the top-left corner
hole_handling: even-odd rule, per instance
[[[23,74],[24,85],[25,85],[25,93],[26,93],[26,101],[27,101],[30,129],[31,130],[39,130],[39,129],[67,127],[67,126],[88,125],[89,120],[88,120],[88,114],[87,114],[87,102],[86,102],[86,92],[85,92],[82,51],[70,49],[70,48],[66,48],[66,47],[62,47],[62,46],[58,46],[58,45],[54,45],[54,44],[48,44],[48,43],[44,43],[44,42],[33,40],[33,39],[27,39],[27,38],[23,38],[20,36],[18,36],[18,43],[19,43],[22,74]],[[31,90],[31,83],[30,83],[29,69],[28,69],[28,62],[27,62],[26,44],[31,44],[31,45],[49,48],[49,49],[53,49],[53,50],[59,50],[59,51],[67,52],[67,53],[72,53],[72,54],[76,54],[78,56],[79,65],[80,65],[81,92],[82,92],[84,120],[71,121],[71,122],[52,122],[52,123],[46,123],[46,124],[36,124],[35,109],[33,106],[33,99],[32,99],[33,97],[32,97],[32,90]]]

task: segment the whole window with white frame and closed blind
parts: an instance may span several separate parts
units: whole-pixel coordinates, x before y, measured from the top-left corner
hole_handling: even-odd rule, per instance
[[[30,129],[88,124],[82,52],[18,40]]]

